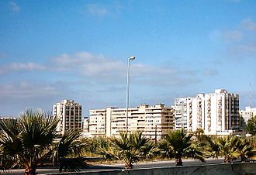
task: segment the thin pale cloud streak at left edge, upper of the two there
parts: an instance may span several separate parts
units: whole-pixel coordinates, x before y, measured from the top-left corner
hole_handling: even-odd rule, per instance
[[[45,70],[46,67],[36,63],[9,63],[4,66],[0,66],[0,75],[9,74],[13,71],[28,71],[28,70]]]

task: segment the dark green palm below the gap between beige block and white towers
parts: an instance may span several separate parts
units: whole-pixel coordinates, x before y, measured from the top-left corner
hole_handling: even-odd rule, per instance
[[[162,155],[175,158],[176,166],[182,166],[182,157],[198,159],[204,162],[199,142],[192,143],[192,136],[185,133],[184,129],[168,132],[160,144]]]

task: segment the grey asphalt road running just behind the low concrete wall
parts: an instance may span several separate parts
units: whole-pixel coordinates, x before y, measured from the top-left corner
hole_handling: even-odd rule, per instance
[[[206,164],[216,164],[222,163],[223,159],[213,160],[209,159],[206,160],[206,163],[202,163],[199,160],[183,160],[183,166],[198,166],[198,165],[206,165]],[[133,169],[140,169],[140,168],[155,168],[155,167],[167,167],[167,166],[175,166],[175,160],[169,161],[154,161],[154,162],[147,162],[147,163],[137,163],[134,164]],[[106,165],[100,164],[95,166],[88,166],[88,169],[82,170],[83,172],[92,172],[92,171],[107,171],[107,170],[123,170],[124,164],[113,164],[113,165]],[[57,173],[57,169],[47,169],[47,168],[38,168],[37,174],[50,174],[50,173]],[[7,172],[0,171],[1,175],[23,175],[24,169],[19,170],[9,170]]]

